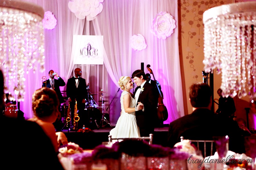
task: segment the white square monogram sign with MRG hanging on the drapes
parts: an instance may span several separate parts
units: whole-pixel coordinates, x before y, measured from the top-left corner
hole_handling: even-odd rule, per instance
[[[103,64],[103,52],[103,36],[73,35],[71,53],[75,64]]]

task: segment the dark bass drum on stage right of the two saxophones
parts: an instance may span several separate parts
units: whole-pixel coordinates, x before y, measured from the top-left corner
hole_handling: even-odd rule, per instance
[[[100,120],[102,118],[102,114],[99,109],[93,108],[93,109],[87,109],[88,112],[88,127],[93,129],[99,129],[100,127]]]

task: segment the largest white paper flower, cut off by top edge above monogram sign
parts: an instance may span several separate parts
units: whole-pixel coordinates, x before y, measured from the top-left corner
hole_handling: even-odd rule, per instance
[[[91,21],[102,11],[104,0],[73,0],[69,1],[68,7],[79,19]]]

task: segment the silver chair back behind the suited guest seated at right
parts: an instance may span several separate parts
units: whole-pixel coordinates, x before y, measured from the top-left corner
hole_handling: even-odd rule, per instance
[[[180,141],[184,139],[183,136],[180,137]],[[213,147],[214,140],[189,140],[193,143],[197,149],[202,151],[202,156],[205,158],[207,156],[213,155],[213,150],[215,152],[215,147]]]

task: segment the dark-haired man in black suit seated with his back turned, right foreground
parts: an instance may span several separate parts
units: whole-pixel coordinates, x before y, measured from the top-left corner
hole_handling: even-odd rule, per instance
[[[170,123],[168,145],[173,147],[180,137],[190,140],[212,140],[214,136],[230,137],[229,149],[243,153],[243,132],[238,124],[211,111],[212,91],[208,84],[195,83],[189,88],[189,101],[193,112]]]

